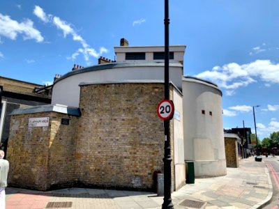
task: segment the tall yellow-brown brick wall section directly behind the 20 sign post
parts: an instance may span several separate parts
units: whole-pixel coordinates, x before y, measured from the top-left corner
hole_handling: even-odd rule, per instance
[[[151,189],[163,172],[163,84],[81,86],[77,176],[83,184]],[[86,130],[86,131],[84,131]]]

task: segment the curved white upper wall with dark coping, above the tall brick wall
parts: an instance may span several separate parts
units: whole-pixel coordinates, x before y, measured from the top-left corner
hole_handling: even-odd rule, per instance
[[[100,66],[100,65],[99,65]],[[105,68],[107,66],[107,68]],[[96,65],[98,67],[98,65]],[[68,72],[58,79],[52,90],[52,104],[79,107],[81,82],[121,82],[126,80],[164,80],[164,63],[125,63],[105,64],[102,70],[94,66],[80,71]],[[79,73],[81,72],[81,73]],[[169,80],[178,88],[181,84],[182,65],[169,64]]]

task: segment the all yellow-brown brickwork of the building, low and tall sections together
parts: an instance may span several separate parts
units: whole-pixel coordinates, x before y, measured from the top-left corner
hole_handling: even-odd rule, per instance
[[[156,188],[153,173],[164,169],[164,127],[156,113],[163,97],[164,84],[92,84],[81,86],[80,117],[13,115],[8,182],[39,190],[71,185]],[[45,116],[49,127],[28,127],[29,118]],[[70,124],[61,125],[61,118],[70,118]],[[173,121],[170,127],[173,159]]]

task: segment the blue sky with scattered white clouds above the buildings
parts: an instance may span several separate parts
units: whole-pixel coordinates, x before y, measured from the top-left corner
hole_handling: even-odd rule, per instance
[[[224,127],[279,131],[279,1],[170,0],[169,44],[186,45],[184,75],[223,91]],[[114,59],[120,38],[164,45],[164,1],[0,1],[0,76],[50,84],[73,64]]]

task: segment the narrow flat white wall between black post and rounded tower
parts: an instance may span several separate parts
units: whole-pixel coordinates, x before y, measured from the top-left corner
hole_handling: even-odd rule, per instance
[[[180,189],[186,182],[186,167],[184,162],[183,141],[183,98],[175,88],[173,91],[174,102],[174,190]]]

